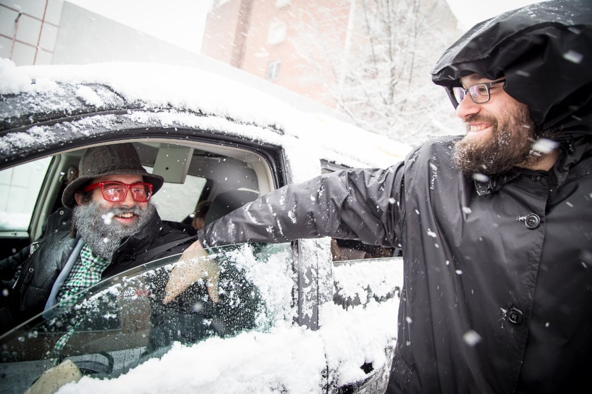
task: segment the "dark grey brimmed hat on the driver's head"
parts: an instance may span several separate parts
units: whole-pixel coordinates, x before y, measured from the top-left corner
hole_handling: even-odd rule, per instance
[[[78,178],[66,186],[62,204],[68,208],[75,207],[74,194],[89,181],[104,175],[141,175],[144,182],[152,184],[152,194],[156,194],[165,182],[160,175],[150,174],[144,170],[136,148],[130,142],[94,146],[82,155],[78,166]]]

